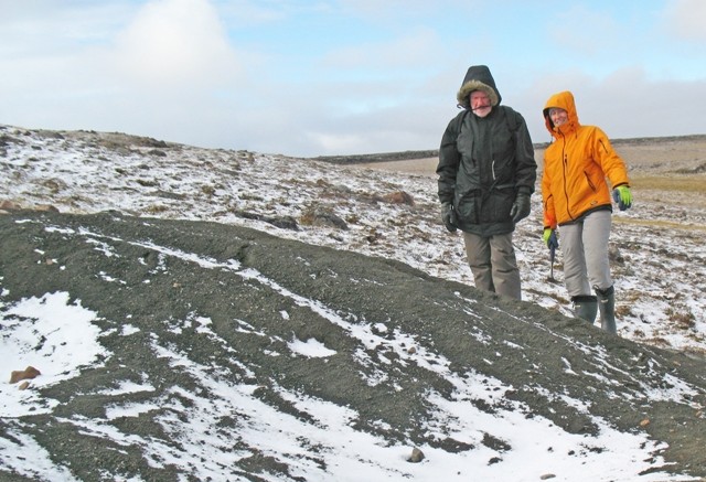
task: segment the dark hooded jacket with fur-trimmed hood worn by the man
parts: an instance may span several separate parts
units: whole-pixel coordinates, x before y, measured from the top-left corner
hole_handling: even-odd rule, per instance
[[[493,109],[484,118],[470,109],[473,90],[491,99]],[[439,201],[453,205],[461,231],[483,237],[511,233],[515,196],[531,195],[537,175],[527,125],[518,113],[500,105],[502,97],[484,65],[468,69],[457,99],[463,111],[449,122],[439,149]]]

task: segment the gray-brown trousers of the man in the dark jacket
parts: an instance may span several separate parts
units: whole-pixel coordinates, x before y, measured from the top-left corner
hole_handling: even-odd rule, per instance
[[[512,233],[491,237],[463,233],[463,243],[475,288],[518,300],[522,298]]]

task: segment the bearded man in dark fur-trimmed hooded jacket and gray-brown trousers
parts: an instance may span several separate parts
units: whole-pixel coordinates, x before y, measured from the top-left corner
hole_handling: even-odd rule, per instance
[[[524,118],[507,106],[485,65],[471,66],[457,94],[463,108],[439,149],[439,201],[447,229],[463,232],[475,287],[521,299],[512,244],[530,214],[537,163]]]

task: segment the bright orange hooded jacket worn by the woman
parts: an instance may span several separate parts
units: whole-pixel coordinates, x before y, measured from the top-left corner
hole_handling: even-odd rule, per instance
[[[549,118],[553,107],[568,114],[567,122],[560,127],[555,127]],[[554,137],[554,142],[544,152],[544,227],[555,229],[557,225],[580,219],[592,211],[612,210],[608,181],[612,188],[630,181],[625,164],[608,136],[596,126],[579,124],[570,92],[549,97],[543,114],[546,128]]]

